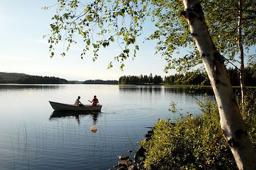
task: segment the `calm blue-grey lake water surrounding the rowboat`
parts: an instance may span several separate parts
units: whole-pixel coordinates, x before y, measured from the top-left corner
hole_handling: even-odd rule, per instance
[[[116,169],[117,155],[133,158],[137,141],[177,103],[200,115],[189,88],[118,85],[0,85],[0,169]],[[83,104],[97,95],[101,113],[58,115],[48,101]],[[97,126],[93,133],[91,127]],[[132,150],[129,153],[128,150]]]

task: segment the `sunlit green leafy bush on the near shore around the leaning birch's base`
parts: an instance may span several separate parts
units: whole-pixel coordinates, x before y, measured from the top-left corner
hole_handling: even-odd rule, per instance
[[[256,90],[248,90],[243,119],[256,150]],[[198,103],[202,115],[180,114],[175,124],[161,119],[154,125],[154,136],[140,141],[145,148],[146,169],[237,169],[234,157],[221,132],[218,107],[213,101]],[[142,168],[142,167],[141,167]]]

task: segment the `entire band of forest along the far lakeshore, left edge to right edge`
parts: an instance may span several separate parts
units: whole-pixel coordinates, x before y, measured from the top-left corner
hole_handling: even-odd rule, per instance
[[[234,88],[240,87],[239,70],[229,68],[228,75]],[[254,69],[245,69],[246,88],[256,87],[256,73]],[[54,76],[31,76],[24,73],[0,72],[0,83],[18,84],[111,84],[111,85],[164,85],[166,87],[211,87],[209,78],[204,71],[188,71],[184,74],[176,73],[162,78],[159,75],[120,76],[119,80],[85,80],[68,81]]]

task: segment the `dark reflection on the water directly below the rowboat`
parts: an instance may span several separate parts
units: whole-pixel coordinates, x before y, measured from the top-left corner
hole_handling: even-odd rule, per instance
[[[66,118],[66,117],[75,117],[77,120],[77,124],[81,123],[81,117],[85,117],[86,115],[92,116],[93,125],[97,124],[97,118],[99,117],[100,112],[95,111],[53,111],[49,120],[53,120],[56,118]]]

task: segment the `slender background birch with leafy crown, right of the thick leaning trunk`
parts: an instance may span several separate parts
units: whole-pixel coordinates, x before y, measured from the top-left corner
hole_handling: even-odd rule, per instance
[[[253,31],[256,29],[256,1],[203,1],[202,4],[216,48],[225,54],[228,62],[239,67],[241,101],[244,103],[244,57],[245,52],[256,45]],[[234,59],[236,55],[239,60]]]

